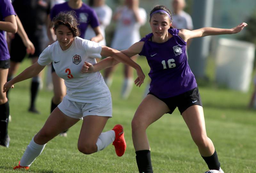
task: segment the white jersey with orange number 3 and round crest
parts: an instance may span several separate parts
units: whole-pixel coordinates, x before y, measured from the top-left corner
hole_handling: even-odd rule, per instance
[[[44,49],[38,64],[46,66],[52,62],[56,74],[65,81],[67,99],[82,103],[101,102],[111,99],[111,94],[100,72],[81,73],[84,61],[95,64],[95,58],[101,58],[101,49],[99,43],[75,37],[71,46],[62,51],[56,41]]]

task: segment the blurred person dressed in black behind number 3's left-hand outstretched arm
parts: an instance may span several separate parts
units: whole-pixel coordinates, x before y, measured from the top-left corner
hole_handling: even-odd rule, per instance
[[[35,46],[35,53],[28,55],[28,58],[31,58],[32,64],[34,64],[45,48],[43,28],[47,19],[47,13],[49,13],[51,8],[50,0],[14,0],[12,5],[28,34],[28,38]],[[22,39],[18,34],[15,34],[11,40],[10,55],[11,67],[8,72],[8,81],[13,78],[21,61],[26,57],[26,47],[23,45]],[[39,113],[36,110],[35,103],[40,83],[42,83],[40,74],[32,78],[29,112]]]

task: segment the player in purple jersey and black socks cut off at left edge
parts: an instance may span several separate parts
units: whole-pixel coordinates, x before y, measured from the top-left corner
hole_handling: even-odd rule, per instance
[[[15,12],[10,0],[0,1],[0,87],[7,81],[8,68],[10,68],[10,54],[5,38],[6,32],[17,32]],[[9,147],[8,135],[10,107],[6,94],[0,92],[0,145]]]

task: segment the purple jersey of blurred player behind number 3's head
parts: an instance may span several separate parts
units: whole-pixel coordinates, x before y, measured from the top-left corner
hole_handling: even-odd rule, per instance
[[[85,31],[90,25],[92,28],[98,27],[100,25],[96,12],[86,4],[82,4],[79,9],[72,9],[68,6],[68,2],[62,4],[56,4],[51,10],[50,16],[53,19],[59,12],[75,11],[78,20],[78,28],[81,31],[81,38],[84,38]]]

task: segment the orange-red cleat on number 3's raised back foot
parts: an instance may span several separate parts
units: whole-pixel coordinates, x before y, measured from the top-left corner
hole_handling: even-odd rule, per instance
[[[116,138],[112,145],[115,146],[116,155],[121,157],[122,155],[124,155],[124,152],[126,150],[126,142],[124,139],[124,128],[121,124],[117,124],[112,130],[114,130],[116,134]]]

